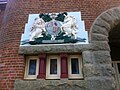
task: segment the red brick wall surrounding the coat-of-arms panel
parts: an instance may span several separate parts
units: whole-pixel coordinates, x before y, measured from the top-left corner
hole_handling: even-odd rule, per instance
[[[81,11],[89,31],[99,14],[119,3],[120,0],[9,0],[0,30],[0,90],[12,90],[14,80],[23,79],[25,61],[18,49],[28,14]]]

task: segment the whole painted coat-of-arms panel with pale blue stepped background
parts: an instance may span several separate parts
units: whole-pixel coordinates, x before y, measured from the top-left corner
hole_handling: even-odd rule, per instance
[[[30,14],[21,45],[88,43],[80,12]]]

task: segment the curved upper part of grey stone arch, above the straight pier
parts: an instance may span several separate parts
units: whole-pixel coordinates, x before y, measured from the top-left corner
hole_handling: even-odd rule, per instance
[[[90,43],[108,42],[109,32],[120,23],[120,7],[111,8],[100,14],[90,29]]]

